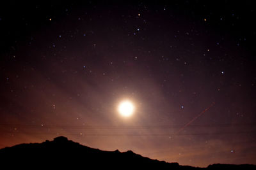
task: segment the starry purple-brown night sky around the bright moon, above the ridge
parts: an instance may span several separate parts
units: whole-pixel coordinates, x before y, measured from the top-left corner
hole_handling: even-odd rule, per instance
[[[1,4],[0,148],[67,136],[181,165],[256,164],[252,2]]]

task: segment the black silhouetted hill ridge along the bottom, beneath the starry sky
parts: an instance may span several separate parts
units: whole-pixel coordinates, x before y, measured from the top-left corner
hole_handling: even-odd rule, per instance
[[[80,145],[60,136],[43,143],[20,144],[0,150],[2,166],[40,169],[256,169],[256,166],[213,164],[207,168],[180,166],[142,157],[132,151],[102,151]]]

